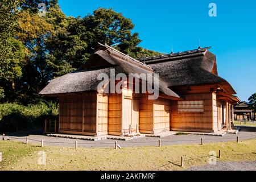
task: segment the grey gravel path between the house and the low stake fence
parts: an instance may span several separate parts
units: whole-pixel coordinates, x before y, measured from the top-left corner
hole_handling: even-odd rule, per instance
[[[69,138],[56,138],[40,135],[39,133],[9,133],[8,139],[25,142],[26,137],[30,140],[30,143],[40,143],[40,140],[44,140],[45,146],[75,146],[75,141],[78,141],[79,147],[114,147],[115,140],[106,139],[100,141],[88,141]],[[212,142],[230,142],[235,141],[237,136],[240,140],[256,138],[256,127],[241,127],[240,132],[236,134],[226,134],[224,137],[208,136],[208,135],[170,135],[168,137],[161,138],[162,146],[173,144],[196,144],[201,143],[201,138],[204,138],[204,143]],[[11,138],[11,137],[15,137]],[[18,138],[18,139],[16,139]],[[38,141],[34,141],[38,140]],[[137,146],[158,146],[159,138],[154,137],[142,137],[128,141],[118,141],[121,147],[137,147]]]

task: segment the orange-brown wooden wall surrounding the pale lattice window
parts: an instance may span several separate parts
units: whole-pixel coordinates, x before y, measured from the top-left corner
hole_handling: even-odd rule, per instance
[[[184,94],[183,98],[185,101],[203,100],[204,112],[178,112],[178,101],[171,101],[171,130],[213,132],[212,93]]]

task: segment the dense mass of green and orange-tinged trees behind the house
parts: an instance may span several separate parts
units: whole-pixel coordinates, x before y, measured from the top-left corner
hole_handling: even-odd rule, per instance
[[[44,16],[39,14],[40,3],[46,5]],[[0,20],[2,101],[42,100],[38,92],[48,81],[84,65],[98,42],[134,58],[159,55],[139,47],[134,24],[112,9],[73,18],[65,16],[57,0],[3,0]]]

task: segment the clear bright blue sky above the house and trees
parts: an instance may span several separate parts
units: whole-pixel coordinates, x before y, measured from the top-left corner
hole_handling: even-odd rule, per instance
[[[216,3],[217,17],[208,15]],[[98,7],[130,18],[140,46],[162,53],[212,46],[218,74],[232,84],[241,100],[256,92],[256,1],[254,0],[59,0],[68,16],[85,16]]]

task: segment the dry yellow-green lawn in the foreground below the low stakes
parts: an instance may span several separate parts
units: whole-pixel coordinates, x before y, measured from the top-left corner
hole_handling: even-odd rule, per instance
[[[0,141],[0,170],[184,170],[208,164],[210,151],[222,151],[217,161],[256,160],[256,139],[163,147],[71,148],[44,147]],[[46,166],[38,164],[38,152],[46,152]],[[184,156],[185,168],[180,158]],[[202,156],[202,157],[201,157]]]

